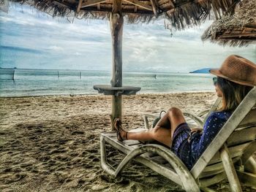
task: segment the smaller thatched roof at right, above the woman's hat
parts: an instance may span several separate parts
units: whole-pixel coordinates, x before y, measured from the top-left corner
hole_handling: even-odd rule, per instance
[[[256,0],[241,1],[234,15],[215,21],[206,29],[202,39],[240,47],[256,42]]]

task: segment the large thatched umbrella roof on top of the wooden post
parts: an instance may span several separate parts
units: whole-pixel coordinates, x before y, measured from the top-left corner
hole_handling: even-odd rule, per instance
[[[119,0],[10,0],[30,4],[54,16],[109,18],[113,1]],[[174,28],[197,25],[212,9],[217,17],[233,12],[239,0],[122,0],[121,12],[129,23],[148,22],[165,15]]]

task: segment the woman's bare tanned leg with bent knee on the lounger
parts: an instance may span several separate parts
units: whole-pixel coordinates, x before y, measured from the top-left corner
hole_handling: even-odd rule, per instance
[[[152,129],[140,132],[128,132],[126,134],[126,131],[124,131],[122,128],[119,128],[119,132],[122,139],[135,139],[143,142],[156,140],[157,142],[161,142],[162,144],[170,147],[173,141],[173,133],[176,127],[184,122],[186,121],[181,110],[176,107],[172,107],[170,110],[167,110],[166,114]]]

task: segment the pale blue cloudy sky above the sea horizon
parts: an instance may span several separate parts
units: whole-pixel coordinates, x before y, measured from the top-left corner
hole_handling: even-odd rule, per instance
[[[256,45],[222,47],[202,42],[211,25],[184,31],[165,29],[164,20],[124,24],[123,70],[128,72],[190,72],[219,67],[230,54],[256,63]],[[0,66],[26,69],[112,70],[108,20],[51,18],[36,9],[11,5],[0,11]]]

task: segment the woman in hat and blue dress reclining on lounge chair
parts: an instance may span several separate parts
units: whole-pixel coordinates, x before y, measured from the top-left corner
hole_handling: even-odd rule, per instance
[[[146,131],[124,131],[121,120],[116,119],[117,139],[160,142],[170,147],[187,168],[192,169],[238,104],[256,86],[256,65],[238,55],[230,55],[220,69],[211,69],[210,72],[217,75],[213,80],[217,96],[222,97],[222,107],[209,115],[203,131],[199,128],[190,129],[181,110],[172,107],[154,128]]]

